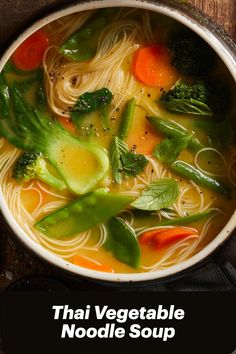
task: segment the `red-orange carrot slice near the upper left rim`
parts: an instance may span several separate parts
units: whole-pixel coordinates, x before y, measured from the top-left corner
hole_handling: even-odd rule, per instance
[[[13,53],[12,61],[20,70],[34,70],[43,61],[49,46],[49,39],[43,31],[37,31],[27,38]]]

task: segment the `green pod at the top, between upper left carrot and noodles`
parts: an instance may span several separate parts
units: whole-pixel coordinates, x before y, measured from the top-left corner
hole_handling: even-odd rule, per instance
[[[111,21],[112,9],[100,10],[96,16],[72,34],[61,46],[59,52],[73,61],[86,61],[94,57],[98,38]]]

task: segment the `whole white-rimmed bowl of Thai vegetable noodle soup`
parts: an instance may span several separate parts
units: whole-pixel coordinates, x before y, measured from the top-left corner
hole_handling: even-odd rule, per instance
[[[0,61],[1,210],[61,269],[163,279],[235,228],[235,48],[185,10],[85,1]]]

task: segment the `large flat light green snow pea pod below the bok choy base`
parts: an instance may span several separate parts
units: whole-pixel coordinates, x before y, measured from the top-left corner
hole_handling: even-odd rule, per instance
[[[132,200],[101,188],[47,215],[35,227],[51,238],[69,237],[106,222]]]

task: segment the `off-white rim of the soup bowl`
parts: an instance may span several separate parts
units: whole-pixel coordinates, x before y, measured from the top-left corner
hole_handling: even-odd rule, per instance
[[[218,56],[225,63],[228,68],[231,76],[234,81],[236,81],[236,50],[235,52],[227,45],[227,40],[229,37],[225,34],[224,31],[219,31],[223,36],[226,36],[227,40],[222,39],[219,35],[214,34],[212,30],[210,30],[206,24],[199,23],[199,18],[192,14],[186,14],[180,8],[177,9],[171,6],[168,3],[155,2],[149,0],[84,0],[83,2],[79,2],[77,4],[66,5],[65,8],[57,10],[49,14],[48,16],[43,17],[42,19],[37,20],[33,25],[29,26],[24,32],[22,32],[8,47],[3,56],[0,59],[0,72],[10,58],[11,54],[14,50],[32,33],[42,28],[43,26],[57,20],[61,17],[67,16],[72,13],[92,10],[97,8],[105,8],[105,7],[135,7],[139,9],[150,10],[154,12],[158,12],[160,14],[171,17],[178,22],[184,24],[186,27],[189,27],[194,32],[196,32],[200,37],[202,37],[218,54]],[[198,10],[196,10],[198,12]],[[205,16],[204,16],[205,17]],[[207,18],[207,17],[205,17]],[[201,22],[201,21],[200,21]],[[219,28],[214,21],[211,21],[211,24],[215,25]],[[234,49],[234,48],[233,48]],[[224,226],[224,228],[220,231],[220,233],[201,251],[199,251],[196,255],[191,257],[190,259],[179,263],[177,265],[171,266],[169,268],[163,270],[156,270],[152,272],[144,272],[144,273],[104,273],[100,271],[94,271],[87,268],[83,268],[77,265],[74,265],[59,256],[51,253],[46,248],[41,246],[39,243],[35,242],[32,238],[30,238],[27,233],[21,228],[21,226],[17,223],[13,215],[11,214],[8,205],[4,199],[3,192],[0,186],[0,206],[2,214],[7,221],[10,228],[14,231],[16,236],[20,239],[20,241],[28,248],[30,248],[34,253],[39,255],[41,258],[46,260],[53,265],[56,265],[59,268],[62,268],[70,273],[73,273],[78,276],[83,276],[85,278],[90,278],[93,280],[101,280],[105,282],[146,282],[151,280],[159,280],[162,278],[167,278],[173,275],[176,275],[186,269],[189,269],[196,264],[199,264],[204,259],[206,259],[216,248],[218,248],[233,232],[236,225],[236,210],[232,214],[231,218]]]

